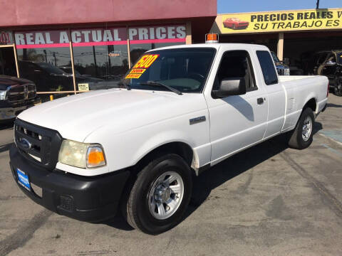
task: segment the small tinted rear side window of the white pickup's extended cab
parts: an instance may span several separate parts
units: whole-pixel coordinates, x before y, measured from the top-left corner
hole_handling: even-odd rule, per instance
[[[257,50],[257,57],[261,66],[262,75],[266,85],[274,85],[278,83],[276,75],[276,67],[271,58],[271,54],[266,50]]]

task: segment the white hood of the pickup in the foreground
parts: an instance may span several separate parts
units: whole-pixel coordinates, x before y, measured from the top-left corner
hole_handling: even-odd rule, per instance
[[[202,100],[200,100],[202,99]],[[110,89],[63,97],[31,107],[18,118],[83,142],[88,134],[110,125],[115,133],[205,107],[202,94]]]

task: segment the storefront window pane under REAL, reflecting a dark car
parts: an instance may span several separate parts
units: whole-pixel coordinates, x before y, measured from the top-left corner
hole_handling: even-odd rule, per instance
[[[70,48],[19,48],[17,54],[21,78],[36,83],[38,92],[73,91],[73,75],[61,68],[71,68]]]

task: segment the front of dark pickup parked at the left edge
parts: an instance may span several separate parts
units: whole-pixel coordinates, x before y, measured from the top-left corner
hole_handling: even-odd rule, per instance
[[[0,75],[0,122],[6,122],[33,106],[36,85],[33,82]]]

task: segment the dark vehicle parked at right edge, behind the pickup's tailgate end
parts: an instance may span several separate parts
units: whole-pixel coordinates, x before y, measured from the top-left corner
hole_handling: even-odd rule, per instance
[[[342,96],[342,50],[324,50],[315,53],[309,69],[315,75],[325,75],[335,95]]]

